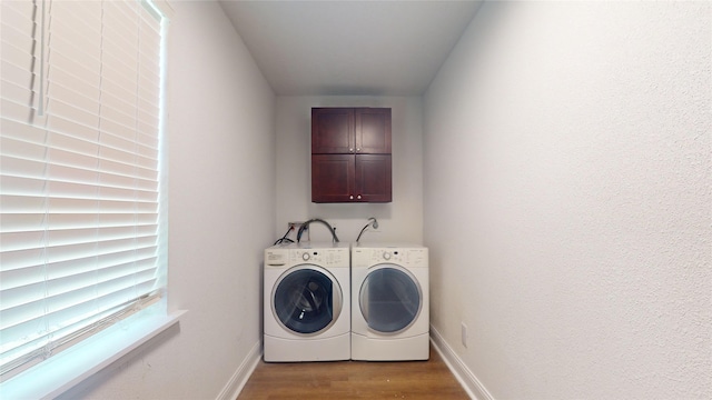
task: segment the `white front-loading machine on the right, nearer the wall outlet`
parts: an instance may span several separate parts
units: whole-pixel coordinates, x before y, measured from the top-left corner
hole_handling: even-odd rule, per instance
[[[429,358],[428,249],[352,246],[352,359]]]

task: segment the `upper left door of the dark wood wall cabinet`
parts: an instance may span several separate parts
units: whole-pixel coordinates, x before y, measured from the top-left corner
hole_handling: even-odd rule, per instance
[[[354,127],[353,108],[313,108],[312,153],[353,153]]]

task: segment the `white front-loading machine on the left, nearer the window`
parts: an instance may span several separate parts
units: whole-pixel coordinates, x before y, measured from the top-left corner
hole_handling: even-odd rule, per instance
[[[349,266],[348,243],[265,249],[265,361],[350,358]]]

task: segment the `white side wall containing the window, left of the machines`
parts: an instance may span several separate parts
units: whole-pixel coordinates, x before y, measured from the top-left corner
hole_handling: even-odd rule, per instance
[[[189,312],[66,399],[216,399],[259,351],[276,98],[216,2],[171,4],[168,307]]]

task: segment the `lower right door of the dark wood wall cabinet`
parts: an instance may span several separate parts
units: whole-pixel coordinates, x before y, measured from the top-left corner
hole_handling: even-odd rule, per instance
[[[356,156],[355,200],[390,202],[390,154]]]

